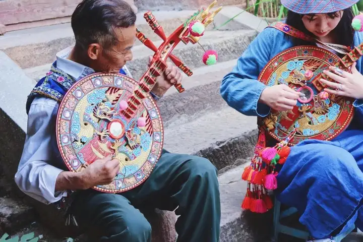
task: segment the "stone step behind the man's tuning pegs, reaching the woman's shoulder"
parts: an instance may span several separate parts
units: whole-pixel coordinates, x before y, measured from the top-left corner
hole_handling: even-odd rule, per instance
[[[206,32],[199,42],[205,50],[214,49],[218,53],[218,63],[230,61],[231,59],[238,58],[251,43],[256,36],[256,31],[253,30],[240,30],[240,31],[209,31]],[[161,44],[161,41],[155,42]],[[173,54],[176,55],[184,62],[186,66],[197,72],[197,68],[205,67],[202,62],[204,50],[198,44],[183,43],[176,46]],[[148,58],[153,54],[149,48],[144,45],[135,46],[133,49],[134,59],[127,63],[127,67],[133,75],[134,79],[139,79],[147,70]],[[54,61],[53,56],[52,61]],[[40,62],[39,62],[40,63]],[[38,81],[50,69],[51,64],[39,65],[31,68],[25,68],[24,72],[28,77]],[[184,75],[186,77],[186,75]],[[194,76],[194,75],[193,75]]]

